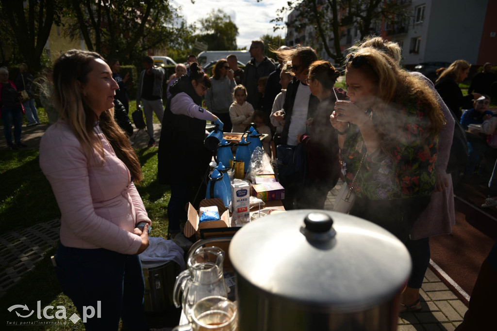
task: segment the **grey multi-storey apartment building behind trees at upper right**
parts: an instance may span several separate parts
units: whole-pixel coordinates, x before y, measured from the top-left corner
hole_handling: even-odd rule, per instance
[[[458,59],[479,66],[485,62],[497,64],[497,0],[397,0],[397,3],[406,6],[409,18],[377,21],[370,31],[399,43],[406,66]],[[296,20],[304,19],[298,9],[287,18],[287,44],[314,46],[323,59],[328,59],[312,24],[299,31],[294,28]],[[343,51],[361,36],[357,26],[346,16],[346,9],[340,11],[339,19],[350,21],[349,24],[342,21],[340,28]],[[332,47],[332,39],[328,45]]]

